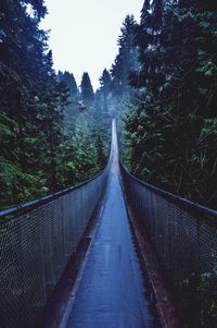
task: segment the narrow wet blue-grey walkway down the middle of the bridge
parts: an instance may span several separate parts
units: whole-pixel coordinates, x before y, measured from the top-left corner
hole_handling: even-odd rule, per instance
[[[104,209],[67,328],[153,327],[153,314],[119,183],[115,121],[112,151]]]

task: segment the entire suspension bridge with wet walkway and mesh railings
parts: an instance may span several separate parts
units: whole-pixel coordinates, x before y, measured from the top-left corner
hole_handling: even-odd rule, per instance
[[[217,212],[118,159],[0,212],[0,328],[216,328]]]

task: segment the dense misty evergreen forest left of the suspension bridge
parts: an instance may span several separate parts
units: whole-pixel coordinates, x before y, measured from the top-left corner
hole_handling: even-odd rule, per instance
[[[54,72],[46,13],[42,0],[0,4],[1,208],[87,180],[106,161],[103,81],[97,97],[87,72],[80,87]]]

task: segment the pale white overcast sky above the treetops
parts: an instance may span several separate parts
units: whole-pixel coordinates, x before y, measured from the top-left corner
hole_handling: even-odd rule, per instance
[[[143,0],[46,0],[49,15],[42,22],[51,29],[54,69],[74,73],[80,85],[90,74],[94,89],[104,68],[117,54],[117,38],[127,14],[139,20]]]

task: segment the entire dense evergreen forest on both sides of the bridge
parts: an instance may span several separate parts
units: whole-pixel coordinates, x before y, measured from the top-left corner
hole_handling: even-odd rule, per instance
[[[99,172],[111,113],[138,178],[217,203],[217,4],[145,0],[127,15],[118,53],[94,93],[84,72],[55,73],[43,1],[0,4],[0,206],[41,197]]]

